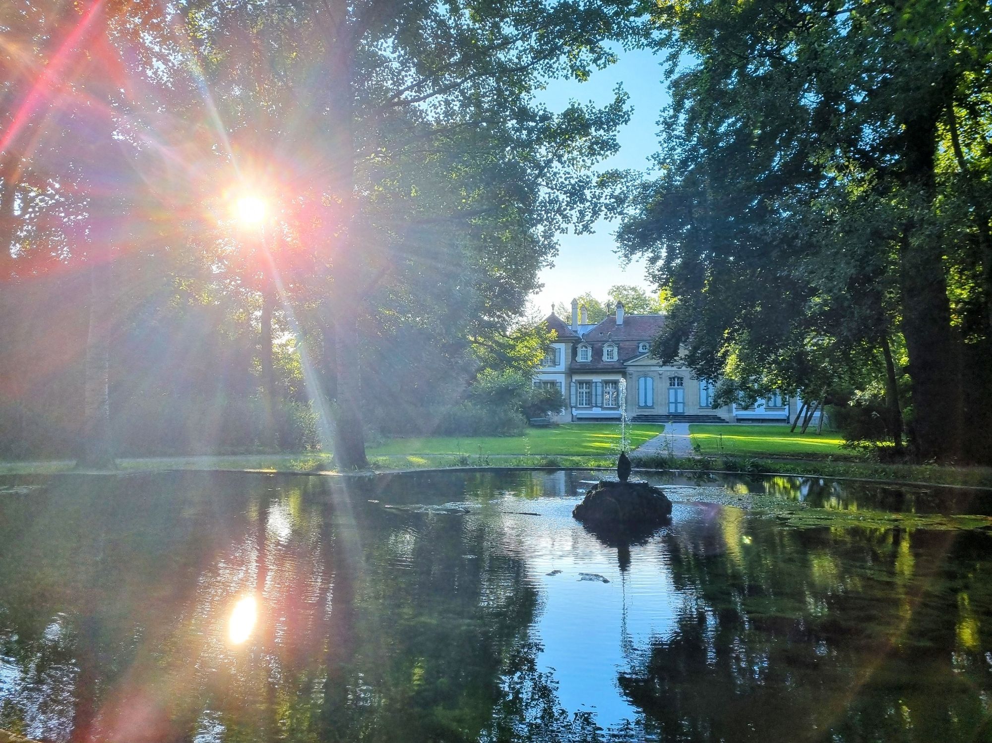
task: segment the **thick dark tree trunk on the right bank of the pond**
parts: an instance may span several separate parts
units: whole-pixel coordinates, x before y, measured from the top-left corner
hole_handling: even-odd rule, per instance
[[[961,385],[957,344],[940,236],[930,229],[935,182],[933,159],[939,109],[905,122],[905,186],[915,214],[908,219],[900,251],[903,335],[913,379],[911,441],[920,459],[947,460],[960,451]]]

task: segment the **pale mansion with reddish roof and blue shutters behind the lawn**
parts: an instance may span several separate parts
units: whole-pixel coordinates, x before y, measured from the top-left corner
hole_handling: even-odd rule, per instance
[[[555,422],[619,419],[621,379],[627,382],[627,416],[635,422],[787,423],[796,414],[798,401],[777,394],[747,408],[714,408],[712,382],[682,364],[663,366],[651,358],[651,342],[664,328],[665,315],[626,315],[617,302],[615,314],[589,324],[585,308],[580,311],[573,299],[570,325],[555,314],[545,322],[556,339],[534,383],[555,385],[564,395],[567,407],[552,416]]]

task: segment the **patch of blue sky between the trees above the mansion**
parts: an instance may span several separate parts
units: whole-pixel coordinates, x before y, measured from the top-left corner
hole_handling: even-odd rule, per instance
[[[563,109],[571,99],[605,104],[613,99],[617,83],[622,82],[630,95],[628,104],[634,113],[630,123],[617,135],[620,151],[604,160],[602,167],[643,169],[649,164],[648,158],[658,150],[657,122],[661,110],[669,102],[661,61],[661,56],[651,52],[621,51],[616,64],[594,72],[587,82],[556,81],[541,98],[556,111]],[[643,265],[633,263],[626,269],[621,266],[620,258],[614,253],[616,228],[616,223],[601,220],[592,235],[560,236],[555,265],[542,271],[545,287],[533,297],[543,315],[551,312],[553,302],[567,304],[573,296],[586,291],[605,298],[609,287],[617,283],[639,284],[651,289]]]

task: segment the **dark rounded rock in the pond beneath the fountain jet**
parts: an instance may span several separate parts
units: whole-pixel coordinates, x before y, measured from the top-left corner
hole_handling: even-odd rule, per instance
[[[672,501],[661,488],[647,482],[601,479],[589,488],[571,515],[595,529],[643,532],[669,522]]]

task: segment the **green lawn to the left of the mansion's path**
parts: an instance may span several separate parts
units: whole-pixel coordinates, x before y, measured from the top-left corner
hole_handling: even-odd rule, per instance
[[[629,425],[630,448],[653,439],[665,430],[663,425]],[[528,428],[523,436],[447,437],[387,439],[369,447],[370,457],[396,454],[466,455],[606,455],[617,451],[620,426],[617,423],[563,423],[548,428]]]

